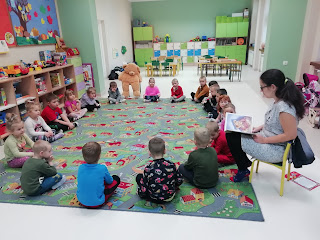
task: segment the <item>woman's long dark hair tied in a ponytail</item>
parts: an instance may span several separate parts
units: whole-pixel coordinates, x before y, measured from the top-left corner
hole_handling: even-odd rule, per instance
[[[269,69],[261,74],[261,81],[267,86],[275,85],[278,89],[276,97],[290,106],[294,106],[299,119],[302,119],[305,113],[304,96],[302,92],[294,85],[294,82],[286,78],[279,69]]]

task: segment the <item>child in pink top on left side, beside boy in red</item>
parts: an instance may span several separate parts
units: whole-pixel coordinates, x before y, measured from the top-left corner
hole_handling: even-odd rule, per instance
[[[86,108],[81,109],[80,100],[76,99],[71,89],[67,89],[65,92],[64,108],[66,109],[67,116],[73,121],[82,118],[88,111]]]

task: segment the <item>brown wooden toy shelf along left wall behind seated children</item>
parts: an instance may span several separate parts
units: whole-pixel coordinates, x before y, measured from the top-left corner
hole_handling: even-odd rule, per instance
[[[50,73],[59,74],[60,84],[58,86],[52,86]],[[64,83],[64,76],[72,79],[71,83]],[[45,80],[46,92],[38,92],[35,79],[38,77],[43,77]],[[14,89],[13,84],[17,84],[16,90]],[[0,112],[6,113],[15,113],[20,116],[19,106],[24,104],[29,99],[34,99],[36,102],[43,103],[43,108],[46,106],[46,95],[48,93],[54,93],[57,95],[64,95],[66,89],[72,89],[76,96],[78,96],[78,89],[75,78],[75,71],[73,64],[67,64],[64,66],[56,66],[45,68],[41,71],[29,72],[27,75],[20,77],[10,77],[7,79],[0,80],[0,88],[3,88],[8,105],[0,106]],[[16,93],[21,93],[22,98],[16,98]],[[60,99],[59,107],[63,107],[64,99]],[[0,135],[0,140],[7,137],[8,134]]]

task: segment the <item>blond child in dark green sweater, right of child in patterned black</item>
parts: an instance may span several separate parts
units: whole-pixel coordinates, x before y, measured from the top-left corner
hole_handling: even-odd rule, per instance
[[[206,128],[194,131],[197,150],[190,153],[186,163],[179,166],[181,174],[198,188],[212,188],[218,182],[218,160],[216,151],[208,147],[210,132]]]

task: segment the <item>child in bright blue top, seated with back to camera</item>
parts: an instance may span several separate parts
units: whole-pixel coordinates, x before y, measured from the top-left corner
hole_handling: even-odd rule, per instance
[[[117,189],[120,178],[111,176],[106,165],[98,164],[101,156],[99,143],[86,143],[82,148],[82,156],[86,164],[78,169],[77,198],[84,207],[102,207]]]

